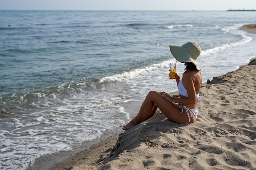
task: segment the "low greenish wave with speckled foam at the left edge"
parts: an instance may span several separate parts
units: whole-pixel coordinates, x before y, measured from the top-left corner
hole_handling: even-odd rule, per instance
[[[6,114],[17,113],[22,114],[21,108],[34,108],[43,106],[44,102],[54,103],[56,98],[65,99],[65,97],[74,93],[80,93],[81,91],[90,91],[92,87],[88,83],[84,82],[69,82],[58,86],[50,86],[40,90],[27,91],[21,93],[6,93],[0,95],[0,113],[4,111]],[[35,104],[38,104],[35,106]],[[20,111],[18,111],[20,110]]]

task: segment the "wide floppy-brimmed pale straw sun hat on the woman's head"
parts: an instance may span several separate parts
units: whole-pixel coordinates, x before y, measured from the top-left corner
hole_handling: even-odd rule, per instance
[[[196,66],[196,70],[200,71],[196,59],[201,53],[201,48],[196,42],[187,42],[182,46],[169,44],[173,57],[179,62],[192,62]]]

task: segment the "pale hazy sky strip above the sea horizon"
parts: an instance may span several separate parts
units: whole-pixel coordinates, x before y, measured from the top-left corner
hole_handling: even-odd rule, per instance
[[[256,0],[0,0],[0,10],[256,9]]]

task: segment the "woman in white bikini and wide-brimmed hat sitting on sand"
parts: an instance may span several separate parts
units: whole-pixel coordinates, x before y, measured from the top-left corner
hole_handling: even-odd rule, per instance
[[[142,103],[138,115],[123,126],[124,130],[152,117],[157,107],[175,123],[189,124],[197,118],[202,75],[196,59],[201,53],[201,48],[195,42],[187,42],[182,46],[169,45],[169,47],[173,57],[177,61],[185,63],[186,66],[182,78],[177,73],[175,74],[180,98],[173,98],[164,92],[150,91]]]

